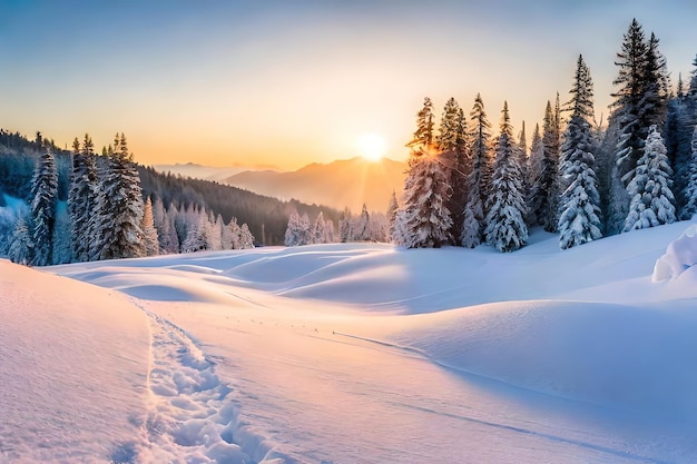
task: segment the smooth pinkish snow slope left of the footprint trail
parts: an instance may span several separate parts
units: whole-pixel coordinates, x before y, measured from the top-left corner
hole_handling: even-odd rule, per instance
[[[145,315],[116,292],[0,260],[0,462],[132,454]]]

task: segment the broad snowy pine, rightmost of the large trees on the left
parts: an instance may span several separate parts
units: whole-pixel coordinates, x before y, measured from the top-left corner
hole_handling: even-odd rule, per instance
[[[140,177],[126,136],[117,134],[101,179],[97,223],[98,259],[145,256]]]

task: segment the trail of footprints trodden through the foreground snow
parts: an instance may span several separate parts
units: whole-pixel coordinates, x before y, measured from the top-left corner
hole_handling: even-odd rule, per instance
[[[149,411],[140,424],[147,445],[139,453],[141,461],[293,463],[239,419],[230,395],[233,388],[220,382],[215,362],[206,357],[192,336],[137,299],[132,302],[149,318],[151,342]]]

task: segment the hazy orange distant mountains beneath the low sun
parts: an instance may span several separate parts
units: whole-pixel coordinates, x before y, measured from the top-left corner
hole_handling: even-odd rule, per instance
[[[392,190],[402,190],[406,171],[404,161],[363,158],[312,164],[295,171],[254,170],[240,167],[214,168],[194,164],[159,165],[155,169],[195,178],[215,180],[256,194],[288,200],[351,208],[359,213],[365,203],[369,210],[384,211]]]

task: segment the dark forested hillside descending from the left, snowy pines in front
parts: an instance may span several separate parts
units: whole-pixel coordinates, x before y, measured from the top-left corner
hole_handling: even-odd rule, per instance
[[[0,256],[35,265],[282,245],[292,211],[340,213],[132,161],[117,135],[101,155],[0,129]],[[165,224],[166,223],[166,224]]]

